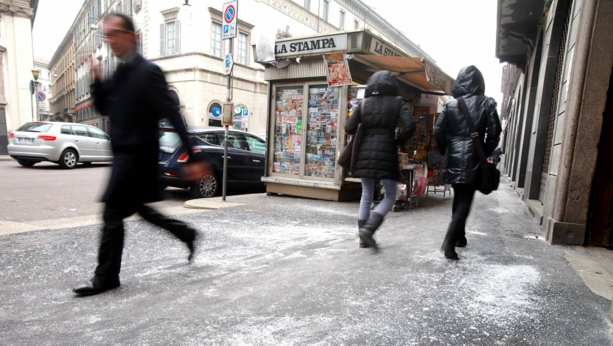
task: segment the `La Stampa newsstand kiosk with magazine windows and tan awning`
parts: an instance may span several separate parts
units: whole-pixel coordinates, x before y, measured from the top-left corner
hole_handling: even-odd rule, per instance
[[[331,55],[344,58],[350,77],[331,67]],[[349,139],[345,122],[364,97],[364,86],[356,85],[364,85],[376,71],[395,72],[400,94],[412,108],[421,94],[451,94],[453,81],[431,62],[408,56],[368,30],[276,40],[274,64],[261,63],[269,83],[262,177],[267,193],[322,200],[360,195],[359,180],[347,177],[337,164]],[[352,85],[330,86],[331,73],[351,78]]]

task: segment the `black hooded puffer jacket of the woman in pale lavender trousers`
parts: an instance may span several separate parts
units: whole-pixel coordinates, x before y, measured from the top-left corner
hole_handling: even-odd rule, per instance
[[[360,122],[365,131],[357,155],[353,176],[371,179],[398,179],[398,146],[404,146],[415,131],[415,121],[398,96],[398,80],[389,71],[379,71],[368,78],[364,109],[357,107],[345,125],[348,134],[355,134]],[[400,120],[402,132],[395,139]]]

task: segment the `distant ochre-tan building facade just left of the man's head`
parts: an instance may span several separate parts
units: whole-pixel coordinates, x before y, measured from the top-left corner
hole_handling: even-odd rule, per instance
[[[53,121],[74,122],[75,69],[70,31],[49,61],[51,71],[51,117]]]

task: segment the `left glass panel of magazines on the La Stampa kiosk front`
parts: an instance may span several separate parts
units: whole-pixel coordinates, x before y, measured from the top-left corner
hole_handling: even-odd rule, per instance
[[[303,86],[276,88],[273,157],[275,173],[300,175],[303,99]]]

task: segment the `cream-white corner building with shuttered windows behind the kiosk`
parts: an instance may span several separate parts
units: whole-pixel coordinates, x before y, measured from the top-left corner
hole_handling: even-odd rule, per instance
[[[221,126],[226,101],[223,59],[229,40],[222,40],[224,0],[86,0],[72,26],[75,70],[75,118],[107,130],[109,119],[97,113],[89,94],[92,76],[86,57],[102,66],[108,78],[118,64],[100,34],[109,13],[131,15],[139,37],[139,52],[166,73],[172,96],[189,126]],[[271,20],[274,18],[274,20]],[[96,29],[90,29],[90,26]],[[411,56],[427,56],[417,45],[358,0],[243,0],[238,5],[238,36],[234,57],[232,102],[237,129],[264,134],[267,83],[264,68],[254,61],[261,37],[308,36],[325,32],[368,29]],[[162,120],[162,123],[164,121]]]

